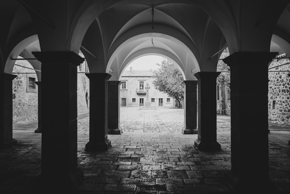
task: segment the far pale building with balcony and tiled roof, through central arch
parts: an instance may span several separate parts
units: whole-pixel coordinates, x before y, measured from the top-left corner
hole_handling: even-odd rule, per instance
[[[120,104],[130,107],[173,107],[174,100],[154,88],[150,70],[124,71],[120,79]]]

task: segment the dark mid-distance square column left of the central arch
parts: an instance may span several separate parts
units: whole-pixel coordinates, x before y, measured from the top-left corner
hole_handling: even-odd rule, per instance
[[[86,73],[90,79],[90,140],[87,151],[107,150],[111,141],[107,137],[108,73]]]

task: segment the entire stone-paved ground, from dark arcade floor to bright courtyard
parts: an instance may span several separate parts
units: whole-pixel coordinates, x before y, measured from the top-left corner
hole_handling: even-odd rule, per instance
[[[196,134],[181,133],[183,109],[122,107],[124,132],[108,135],[112,143],[108,151],[87,152],[89,117],[83,115],[77,123],[77,156],[85,179],[71,193],[231,194],[233,189],[225,178],[230,170],[229,121],[229,116],[217,116],[221,150],[204,152],[194,146]],[[41,133],[34,133],[36,127],[37,122],[15,124],[13,135],[18,144],[0,149],[1,194],[37,193],[34,184],[40,174]],[[275,125],[269,126],[272,128]],[[277,185],[276,193],[290,193],[289,140],[289,130],[269,134],[269,173]]]

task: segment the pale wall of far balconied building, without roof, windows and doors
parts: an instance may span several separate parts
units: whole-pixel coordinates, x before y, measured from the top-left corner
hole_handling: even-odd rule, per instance
[[[126,89],[121,89],[120,86],[120,103],[122,98],[126,98],[126,106],[136,107],[139,106],[139,99],[144,98],[144,106],[146,102],[146,94],[137,94],[136,90],[139,88],[139,81],[144,81],[144,90],[147,83],[150,86],[149,89],[149,102],[150,106],[158,107],[158,99],[163,98],[163,107],[173,107],[173,98],[168,97],[167,94],[162,93],[154,88],[152,77],[121,77],[120,81],[126,81]],[[136,102],[132,102],[132,98],[136,98]],[[151,98],[155,98],[155,102],[151,102]],[[170,98],[170,102],[167,102],[167,98]]]

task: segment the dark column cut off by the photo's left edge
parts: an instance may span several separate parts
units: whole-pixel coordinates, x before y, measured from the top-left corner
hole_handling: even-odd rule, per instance
[[[17,76],[0,73],[0,148],[17,144],[17,141],[12,138],[12,81],[15,77]]]

